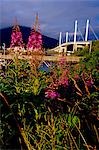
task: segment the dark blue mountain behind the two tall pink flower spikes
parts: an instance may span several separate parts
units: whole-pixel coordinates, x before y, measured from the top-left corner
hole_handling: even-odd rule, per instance
[[[31,28],[20,26],[20,30],[23,35],[24,43],[27,43]],[[2,43],[5,43],[6,47],[10,46],[11,33],[12,33],[12,27],[0,29],[0,38],[1,38],[0,45],[2,45]],[[57,46],[58,40],[56,40],[54,38],[42,35],[42,39],[43,39],[43,47],[45,49],[54,48]]]

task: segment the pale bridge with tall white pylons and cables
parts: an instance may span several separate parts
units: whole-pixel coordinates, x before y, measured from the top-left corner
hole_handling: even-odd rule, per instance
[[[93,33],[94,37],[96,40],[98,40],[98,36],[95,34],[90,21],[87,20],[86,22],[86,28],[85,28],[85,36],[82,35],[79,27],[78,27],[78,21],[75,21],[75,26],[74,26],[74,33],[73,33],[73,41],[69,40],[69,33],[66,32],[65,34],[65,42],[62,42],[62,32],[59,34],[59,45],[53,49],[50,49],[49,51],[51,52],[59,52],[59,53],[74,53],[78,49],[83,49],[85,46],[88,46],[89,51],[91,51],[91,45],[92,41],[88,40],[88,34],[89,34],[89,29]],[[81,36],[82,40],[77,40],[77,35]]]

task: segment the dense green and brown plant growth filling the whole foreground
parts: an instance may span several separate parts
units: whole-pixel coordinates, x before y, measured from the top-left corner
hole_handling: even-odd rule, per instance
[[[98,143],[99,51],[50,73],[39,63],[15,57],[0,72],[1,149],[89,150],[90,139]],[[48,89],[58,96],[46,97]]]

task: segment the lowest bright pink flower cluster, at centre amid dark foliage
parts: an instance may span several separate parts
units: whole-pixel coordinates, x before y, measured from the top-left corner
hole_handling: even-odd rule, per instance
[[[53,90],[48,90],[45,92],[45,97],[55,99],[59,97],[59,93]]]

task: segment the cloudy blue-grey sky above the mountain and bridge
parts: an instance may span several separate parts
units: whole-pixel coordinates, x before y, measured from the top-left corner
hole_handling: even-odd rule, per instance
[[[0,28],[18,24],[32,27],[35,15],[39,15],[40,30],[44,35],[55,37],[74,33],[74,21],[83,32],[86,20],[99,31],[99,0],[0,0]]]

